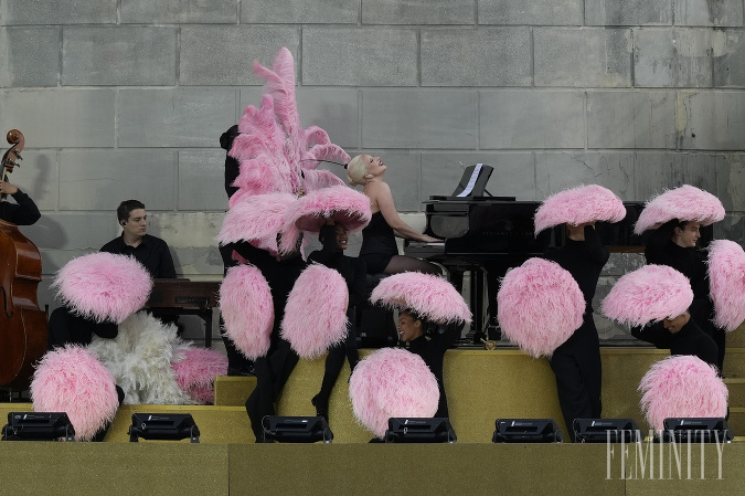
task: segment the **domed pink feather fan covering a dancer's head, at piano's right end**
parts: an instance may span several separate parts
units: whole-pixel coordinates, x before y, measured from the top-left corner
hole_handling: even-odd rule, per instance
[[[626,207],[613,191],[598,184],[578,186],[546,198],[535,212],[535,235],[554,225],[619,222]]]

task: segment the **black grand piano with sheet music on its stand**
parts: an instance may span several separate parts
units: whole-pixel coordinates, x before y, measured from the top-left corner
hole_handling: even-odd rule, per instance
[[[449,273],[453,285],[462,289],[464,274],[469,272],[470,306],[473,314],[473,344],[499,339],[497,291],[499,279],[510,267],[564,244],[564,229],[533,234],[533,218],[541,204],[517,201],[512,197],[491,197],[486,184],[492,168],[482,163],[466,169],[451,197],[430,197],[425,201],[425,234],[444,239],[441,243],[406,241],[408,256],[436,262]],[[643,252],[645,240],[634,234],[634,223],[643,208],[641,202],[625,202],[626,219],[596,229],[611,252]],[[702,235],[703,236],[703,235]],[[485,293],[486,289],[486,293]],[[486,304],[486,305],[485,305]],[[470,337],[470,335],[469,335]]]

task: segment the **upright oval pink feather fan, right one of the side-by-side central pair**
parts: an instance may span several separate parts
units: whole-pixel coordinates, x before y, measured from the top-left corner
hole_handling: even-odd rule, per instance
[[[312,264],[302,271],[287,297],[281,337],[300,358],[318,358],[347,337],[348,304],[349,291],[341,274]]]

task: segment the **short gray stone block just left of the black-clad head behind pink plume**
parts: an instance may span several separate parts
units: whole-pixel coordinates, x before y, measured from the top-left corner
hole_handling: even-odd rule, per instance
[[[224,151],[179,151],[178,210],[227,210]]]

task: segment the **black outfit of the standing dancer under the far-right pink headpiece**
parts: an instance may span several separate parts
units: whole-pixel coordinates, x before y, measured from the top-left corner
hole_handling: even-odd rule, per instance
[[[716,344],[715,365],[721,371],[724,366],[725,333],[712,323],[714,304],[710,297],[706,255],[696,249],[682,247],[672,242],[678,225],[679,222],[673,220],[654,230],[645,249],[645,257],[649,264],[668,265],[689,278],[693,289],[693,303],[689,308],[691,319]],[[658,348],[670,348],[664,338],[653,344]]]

